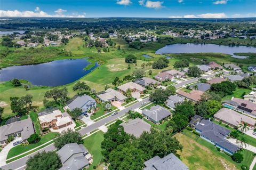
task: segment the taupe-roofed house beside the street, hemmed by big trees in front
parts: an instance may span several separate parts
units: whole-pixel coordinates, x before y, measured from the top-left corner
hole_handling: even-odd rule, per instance
[[[140,137],[143,132],[150,132],[151,129],[151,125],[140,118],[129,119],[127,123],[123,122],[120,126],[124,127],[124,132],[135,137]]]

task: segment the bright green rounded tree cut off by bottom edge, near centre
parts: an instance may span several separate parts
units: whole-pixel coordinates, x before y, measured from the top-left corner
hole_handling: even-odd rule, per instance
[[[145,153],[129,143],[118,145],[110,152],[108,169],[137,170],[143,169]]]

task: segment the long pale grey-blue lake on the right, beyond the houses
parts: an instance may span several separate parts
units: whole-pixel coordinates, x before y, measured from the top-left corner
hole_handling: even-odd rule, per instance
[[[156,51],[156,54],[167,53],[224,53],[230,54],[234,58],[246,59],[248,56],[237,56],[234,53],[256,53],[255,47],[247,46],[226,46],[215,44],[170,44]]]

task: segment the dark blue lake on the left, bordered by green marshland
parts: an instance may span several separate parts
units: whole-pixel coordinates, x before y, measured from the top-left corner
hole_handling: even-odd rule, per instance
[[[9,81],[18,78],[26,79],[33,85],[60,86],[74,82],[99,66],[98,63],[95,63],[91,69],[84,70],[88,64],[90,62],[85,59],[67,59],[6,67],[0,70],[0,80]]]

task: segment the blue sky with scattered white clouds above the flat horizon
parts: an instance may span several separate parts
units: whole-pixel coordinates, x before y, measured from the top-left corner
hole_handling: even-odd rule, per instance
[[[1,0],[0,17],[256,17],[256,0]]]

